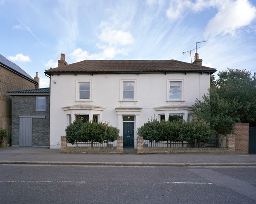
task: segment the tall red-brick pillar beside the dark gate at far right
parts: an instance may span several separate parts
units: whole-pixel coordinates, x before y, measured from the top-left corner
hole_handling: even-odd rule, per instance
[[[249,153],[249,123],[234,123],[233,134],[236,135],[235,153]]]

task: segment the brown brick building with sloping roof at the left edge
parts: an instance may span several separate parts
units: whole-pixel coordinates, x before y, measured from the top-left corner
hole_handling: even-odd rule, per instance
[[[39,88],[38,75],[33,79],[14,62],[0,55],[0,127],[9,131],[5,144],[11,143],[12,135],[12,99],[6,92],[32,88]]]

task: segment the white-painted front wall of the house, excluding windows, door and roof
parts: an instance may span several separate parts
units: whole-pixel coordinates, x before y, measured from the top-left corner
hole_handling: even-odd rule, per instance
[[[128,102],[130,106],[142,108],[141,111],[122,111],[116,112],[115,108],[127,106],[121,102],[120,94],[122,93],[121,80],[136,80],[137,101]],[[175,79],[183,81],[183,102],[167,102],[168,81]],[[83,104],[103,107],[103,111],[94,110],[66,110],[62,108],[81,104],[76,101],[76,81],[91,80],[92,83],[92,100]],[[54,83],[55,81],[55,83]],[[99,120],[108,121],[110,125],[118,127],[120,136],[122,136],[122,117],[118,114],[133,115],[137,114],[134,122],[134,135],[136,136],[137,128],[147,122],[151,116],[158,114],[183,113],[184,119],[190,112],[188,108],[195,103],[195,99],[202,99],[204,94],[208,93],[207,88],[210,85],[210,75],[208,74],[60,74],[51,76],[51,106],[50,106],[50,148],[60,148],[61,136],[65,135],[67,127],[67,114],[72,115],[74,120],[75,114],[99,114]],[[156,107],[161,108],[156,111]],[[170,108],[173,107],[173,108]],[[173,110],[175,108],[175,110]],[[185,110],[182,110],[185,109]],[[166,119],[167,119],[166,118]]]

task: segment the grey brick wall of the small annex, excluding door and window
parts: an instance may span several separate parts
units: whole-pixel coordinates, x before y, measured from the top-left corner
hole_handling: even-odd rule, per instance
[[[20,116],[45,116],[32,118],[32,146],[49,147],[49,95],[46,111],[35,111],[36,96],[12,96],[12,145],[19,145]]]

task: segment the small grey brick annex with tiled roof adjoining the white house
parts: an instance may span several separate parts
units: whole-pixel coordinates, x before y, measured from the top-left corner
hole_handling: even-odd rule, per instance
[[[12,96],[12,146],[49,147],[49,88],[7,94]]]

